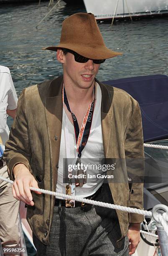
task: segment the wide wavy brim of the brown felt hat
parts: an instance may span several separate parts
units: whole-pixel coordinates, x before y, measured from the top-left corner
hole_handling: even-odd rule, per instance
[[[75,51],[76,53],[84,56],[88,59],[110,59],[118,55],[122,55],[121,52],[112,51],[108,49],[106,46],[84,46],[84,45],[71,45],[71,44],[60,44],[58,46],[50,46],[46,48],[42,48],[43,50],[49,51],[57,51],[59,48],[66,48],[71,51]]]

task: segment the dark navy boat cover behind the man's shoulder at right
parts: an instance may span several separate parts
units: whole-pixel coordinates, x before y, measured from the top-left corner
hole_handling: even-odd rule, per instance
[[[168,139],[168,77],[150,75],[104,81],[139,102],[144,142]]]

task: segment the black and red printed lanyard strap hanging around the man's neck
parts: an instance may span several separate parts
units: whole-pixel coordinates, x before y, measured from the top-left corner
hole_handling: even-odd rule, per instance
[[[66,97],[66,91],[63,86],[62,90],[62,98],[63,98],[63,104],[65,103],[67,109],[72,115],[72,120],[74,123],[74,131],[75,131],[75,138],[76,138],[76,151],[78,154],[78,157],[81,157],[81,151],[84,149],[87,140],[89,138],[90,129],[92,126],[92,119],[93,119],[93,112],[94,112],[94,102],[95,102],[95,86],[94,86],[94,100],[90,102],[89,107],[87,109],[87,112],[84,116],[84,120],[81,125],[81,130],[79,131],[79,125],[78,121],[76,119],[76,116],[74,113],[71,112],[69,107],[69,102]]]

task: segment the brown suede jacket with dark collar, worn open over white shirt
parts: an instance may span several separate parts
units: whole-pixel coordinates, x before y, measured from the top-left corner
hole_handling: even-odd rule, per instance
[[[142,159],[143,131],[137,101],[121,89],[97,82],[102,91],[101,120],[105,158]],[[62,126],[62,84],[63,77],[58,77],[28,87],[21,93],[4,152],[10,179],[13,179],[14,166],[24,163],[35,178],[37,175],[40,177],[40,188],[56,191]],[[119,168],[116,177],[124,176],[127,177],[125,169]],[[115,205],[143,209],[142,183],[132,184],[133,194],[128,182],[109,180],[109,187]],[[27,210],[27,220],[33,233],[46,245],[49,244],[54,200],[53,196],[33,192],[35,205],[28,206]],[[120,241],[127,235],[129,223],[141,223],[143,216],[120,210],[117,210],[117,216],[122,234],[117,242],[120,247]]]

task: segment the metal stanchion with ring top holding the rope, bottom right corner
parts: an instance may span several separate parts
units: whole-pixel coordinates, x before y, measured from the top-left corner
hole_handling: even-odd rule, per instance
[[[162,256],[168,255],[168,236],[164,230],[163,225],[158,220],[158,214],[163,215],[165,212],[168,214],[168,206],[166,205],[155,205],[152,210],[153,218],[157,223],[156,227]]]

